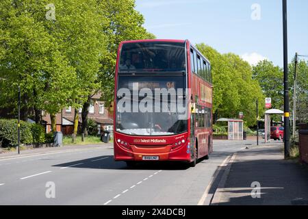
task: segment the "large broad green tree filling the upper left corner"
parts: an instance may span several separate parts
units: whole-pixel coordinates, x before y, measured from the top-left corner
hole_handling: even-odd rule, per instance
[[[0,2],[0,51],[4,54],[0,74],[7,79],[0,88],[0,99],[3,106],[16,109],[17,87],[21,86],[23,120],[27,120],[31,108],[37,114],[39,110],[51,115],[59,112],[66,105],[75,80],[75,70],[46,28],[50,23],[45,17],[47,3]]]

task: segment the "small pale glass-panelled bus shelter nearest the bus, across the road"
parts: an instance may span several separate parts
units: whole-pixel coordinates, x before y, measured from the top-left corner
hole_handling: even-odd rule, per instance
[[[228,123],[228,140],[243,140],[243,120],[238,118],[220,118],[217,122]]]

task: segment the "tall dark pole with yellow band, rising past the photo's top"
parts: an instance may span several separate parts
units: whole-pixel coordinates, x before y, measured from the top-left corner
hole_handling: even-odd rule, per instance
[[[283,81],[284,81],[284,138],[285,158],[290,157],[290,109],[289,84],[287,79],[287,0],[283,0]]]

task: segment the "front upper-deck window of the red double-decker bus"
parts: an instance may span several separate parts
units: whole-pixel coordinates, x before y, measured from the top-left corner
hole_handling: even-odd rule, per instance
[[[185,72],[182,42],[128,42],[123,44],[118,68],[125,72]]]

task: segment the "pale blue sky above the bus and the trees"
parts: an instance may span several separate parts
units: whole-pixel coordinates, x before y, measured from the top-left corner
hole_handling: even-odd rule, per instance
[[[257,8],[252,5],[259,5]],[[288,1],[289,62],[308,55],[308,1]],[[136,0],[144,27],[157,38],[205,42],[220,53],[241,55],[251,64],[268,58],[283,66],[281,0]],[[258,18],[259,20],[253,20]]]

